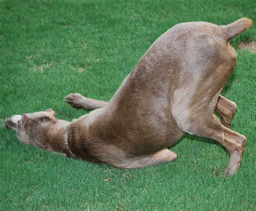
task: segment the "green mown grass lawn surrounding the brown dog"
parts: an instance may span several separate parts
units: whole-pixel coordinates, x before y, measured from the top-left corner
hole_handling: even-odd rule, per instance
[[[237,174],[213,140],[185,135],[178,159],[134,170],[68,159],[18,142],[14,114],[52,108],[71,121],[85,111],[69,93],[108,101],[147,48],[180,22],[255,19],[233,1],[0,1],[0,210],[255,210],[255,54],[237,50],[222,95],[238,104],[231,129],[248,141]],[[255,26],[234,38],[256,41]]]

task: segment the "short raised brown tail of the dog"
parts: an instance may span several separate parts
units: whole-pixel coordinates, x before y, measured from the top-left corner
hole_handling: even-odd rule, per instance
[[[238,34],[244,32],[252,26],[252,19],[250,18],[240,18],[237,21],[221,26],[221,31],[223,32],[223,37],[227,41],[237,36]]]

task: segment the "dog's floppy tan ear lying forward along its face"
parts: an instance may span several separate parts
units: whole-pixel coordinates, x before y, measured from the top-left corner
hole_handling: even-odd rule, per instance
[[[29,120],[32,122],[38,122],[38,121],[42,121],[42,119],[45,119],[45,118],[56,121],[55,111],[53,111],[51,108],[49,108],[49,109],[46,109],[45,111],[23,114],[22,115],[22,129],[25,128],[26,123],[28,123]]]

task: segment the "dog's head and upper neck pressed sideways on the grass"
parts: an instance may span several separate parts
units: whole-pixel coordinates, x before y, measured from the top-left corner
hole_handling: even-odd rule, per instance
[[[70,123],[57,120],[51,108],[23,115],[14,115],[6,120],[6,128],[14,130],[17,138],[25,144],[51,151],[66,153],[65,130]]]

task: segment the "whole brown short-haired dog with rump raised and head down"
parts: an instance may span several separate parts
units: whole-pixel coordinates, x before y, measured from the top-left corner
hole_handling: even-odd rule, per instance
[[[248,18],[223,26],[177,24],[153,43],[109,103],[70,94],[71,106],[96,110],[70,123],[48,109],[12,116],[6,126],[26,144],[120,168],[176,159],[166,147],[188,132],[223,145],[230,153],[225,175],[231,175],[246,137],[228,129],[237,105],[220,92],[237,59],[228,40],[251,26]]]

